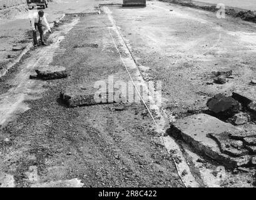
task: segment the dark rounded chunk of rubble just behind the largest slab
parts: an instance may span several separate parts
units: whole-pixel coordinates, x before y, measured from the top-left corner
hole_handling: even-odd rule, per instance
[[[223,94],[216,94],[213,98],[208,99],[207,107],[210,111],[213,111],[213,113],[227,113],[227,111],[230,111],[229,113],[237,113],[240,104],[230,96],[226,97]]]

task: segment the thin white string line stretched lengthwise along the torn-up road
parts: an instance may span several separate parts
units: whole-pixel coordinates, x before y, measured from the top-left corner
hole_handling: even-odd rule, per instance
[[[146,106],[145,101],[144,101],[143,98],[141,97],[141,95],[140,95],[138,89],[137,89],[136,86],[135,86],[135,83],[133,82],[133,79],[131,78],[131,74],[130,74],[130,72],[128,71],[128,68],[127,68],[125,62],[123,61],[123,58],[122,58],[122,56],[121,56],[121,53],[120,53],[118,47],[116,46],[116,42],[115,42],[115,40],[114,40],[114,38],[113,38],[113,36],[112,36],[112,34],[111,34],[110,27],[108,27],[108,31],[110,32],[110,36],[111,36],[111,38],[112,38],[112,40],[113,40],[113,43],[115,44],[116,50],[118,51],[118,54],[119,54],[119,56],[120,56],[120,58],[121,58],[121,61],[122,61],[123,65],[125,66],[125,69],[126,69],[127,73],[128,73],[129,76],[130,76],[130,79],[131,79],[131,82],[133,83],[134,88],[136,89],[137,93],[138,93],[139,96],[140,96],[141,101],[143,102],[143,104],[145,105],[146,109],[148,110],[148,113],[150,113],[150,116],[151,116],[151,118],[153,119],[154,123],[156,124],[156,126],[158,126],[158,124],[156,123],[155,119],[153,118],[153,116],[152,116],[152,114],[151,114],[151,112],[150,112],[150,109],[148,109],[148,106]],[[120,34],[120,35],[121,35],[121,34]],[[161,138],[161,139],[162,139],[162,141],[163,141],[163,138]],[[163,141],[163,144],[165,144],[164,141]],[[176,163],[175,159],[174,159],[173,157],[172,157],[172,159],[173,159],[173,162],[174,162],[174,164],[175,164],[175,168],[176,168],[176,170],[177,170],[178,176],[179,176],[180,179],[182,180],[182,183],[184,184],[184,186],[187,187],[187,185],[185,184],[185,182],[184,182],[183,179],[182,179],[182,176],[180,175],[180,171],[178,170],[178,166],[177,166],[177,163]]]

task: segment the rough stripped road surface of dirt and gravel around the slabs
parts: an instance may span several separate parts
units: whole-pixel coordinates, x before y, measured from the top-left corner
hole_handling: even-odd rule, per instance
[[[220,164],[198,163],[202,157],[165,130],[216,93],[252,89],[255,24],[158,1],[136,9],[95,4],[85,5],[88,14],[74,8],[49,46],[1,78],[1,187],[252,186],[250,173],[216,176]],[[64,66],[68,78],[29,79],[48,65]],[[207,84],[222,68],[234,78]],[[112,77],[161,81],[161,104],[150,98],[149,112],[142,101],[68,108],[59,99],[69,86]]]

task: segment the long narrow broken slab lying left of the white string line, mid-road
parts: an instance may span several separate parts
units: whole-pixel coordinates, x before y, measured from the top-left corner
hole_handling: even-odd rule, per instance
[[[125,96],[120,93],[99,91],[96,88],[84,88],[83,86],[66,88],[61,92],[60,98],[69,107],[126,102]]]

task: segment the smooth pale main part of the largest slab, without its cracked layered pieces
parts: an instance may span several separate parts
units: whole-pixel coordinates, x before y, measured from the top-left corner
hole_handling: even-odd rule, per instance
[[[232,124],[224,123],[217,118],[207,114],[195,114],[184,119],[178,119],[170,128],[170,135],[175,138],[182,138],[193,146],[196,151],[202,153],[227,166],[235,168],[248,164],[248,156],[233,158],[220,151],[218,144],[208,137],[209,133],[222,134],[225,131],[239,131]]]

